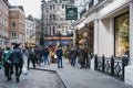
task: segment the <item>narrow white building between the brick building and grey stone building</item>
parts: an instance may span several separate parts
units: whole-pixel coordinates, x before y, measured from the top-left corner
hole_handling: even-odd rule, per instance
[[[35,21],[32,15],[25,18],[25,46],[35,45]]]

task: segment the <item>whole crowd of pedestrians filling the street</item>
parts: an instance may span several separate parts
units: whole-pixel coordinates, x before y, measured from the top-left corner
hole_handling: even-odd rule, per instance
[[[64,51],[60,45],[57,48],[49,48],[48,46],[35,46],[20,48],[19,46],[7,47],[2,50],[0,47],[0,63],[4,66],[4,75],[8,80],[11,80],[11,76],[16,70],[16,79],[20,80],[20,75],[22,73],[22,67],[27,64],[28,70],[30,69],[30,63],[32,63],[33,68],[37,66],[50,65],[50,63],[58,63],[58,68],[63,68],[62,57],[64,57]],[[88,47],[73,45],[69,50],[69,56],[71,58],[71,66],[75,67],[76,63],[80,63],[80,68],[89,67]],[[23,55],[27,56],[27,63],[23,59]],[[76,59],[78,58],[78,59]],[[78,62],[76,62],[78,61]]]

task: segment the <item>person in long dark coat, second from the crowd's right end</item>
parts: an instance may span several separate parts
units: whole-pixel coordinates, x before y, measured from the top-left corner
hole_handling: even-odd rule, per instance
[[[85,67],[85,57],[84,56],[85,56],[84,55],[84,48],[83,48],[83,46],[81,46],[80,50],[79,50],[79,59],[80,59],[80,64],[81,64],[81,69],[83,67]]]

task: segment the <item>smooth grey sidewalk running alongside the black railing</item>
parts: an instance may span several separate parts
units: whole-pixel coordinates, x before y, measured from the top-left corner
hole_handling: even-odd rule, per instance
[[[57,64],[38,67],[40,69],[55,70],[66,88],[133,88],[115,78],[91,69],[80,69],[80,66],[71,67],[68,59],[63,59],[63,68]]]

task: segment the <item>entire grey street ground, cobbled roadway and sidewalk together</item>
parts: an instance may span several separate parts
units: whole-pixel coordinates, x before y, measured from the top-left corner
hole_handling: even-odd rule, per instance
[[[30,69],[28,76],[21,76],[20,82],[16,81],[14,76],[11,81],[7,81],[2,70],[0,70],[0,88],[133,88],[100,72],[80,69],[79,64],[72,67],[64,58],[63,68],[58,68],[57,64],[42,64],[37,69]]]

